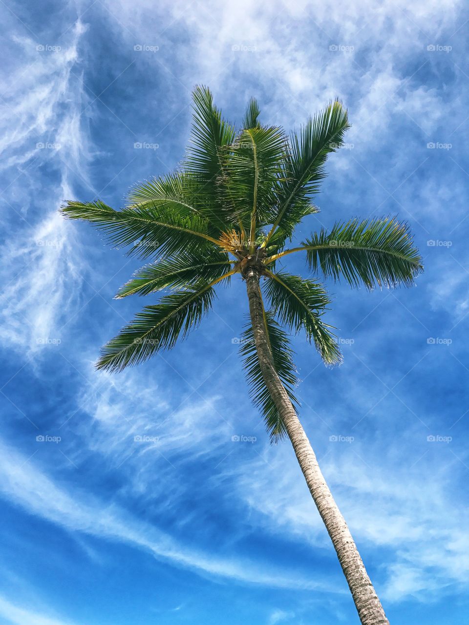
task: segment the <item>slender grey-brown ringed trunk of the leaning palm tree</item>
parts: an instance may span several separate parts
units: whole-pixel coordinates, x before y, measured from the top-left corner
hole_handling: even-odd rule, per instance
[[[260,274],[256,267],[248,267],[244,277],[248,290],[251,321],[261,371],[271,397],[285,423],[286,431],[300,463],[321,518],[333,542],[340,565],[345,574],[350,592],[355,601],[362,625],[389,625],[380,599],[371,584],[370,577],[361,561],[355,542],[351,537],[344,517],[341,515],[331,491],[321,473],[315,452],[305,434],[295,408],[275,370],[266,338],[263,321],[263,304],[260,296]]]

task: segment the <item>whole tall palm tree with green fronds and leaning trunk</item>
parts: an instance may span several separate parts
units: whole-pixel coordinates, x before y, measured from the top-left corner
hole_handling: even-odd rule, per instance
[[[336,223],[286,247],[303,217],[318,212],[311,196],[325,177],[328,154],[350,128],[340,101],[290,138],[277,126],[260,124],[254,99],[238,130],[222,118],[209,89],[197,87],[193,101],[192,142],[177,171],[136,186],[119,211],[99,200],[62,207],[64,216],[91,222],[111,244],[130,246],[129,254],[151,261],[116,297],[167,289],[103,347],[97,367],[121,371],[170,349],[211,309],[214,287],[240,276],[250,311],[240,351],[253,401],[271,439],[290,438],[361,623],[388,623],[298,419],[298,379],[283,327],[305,331],[325,364],[341,362],[333,328],[324,320],[330,299],[320,278],[368,289],[410,286],[423,269],[421,257],[408,227],[394,218]],[[303,254],[317,277],[276,269],[276,261],[290,254]]]

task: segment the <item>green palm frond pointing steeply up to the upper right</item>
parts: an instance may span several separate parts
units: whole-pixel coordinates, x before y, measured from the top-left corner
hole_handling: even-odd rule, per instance
[[[285,180],[278,191],[278,214],[268,239],[277,226],[293,231],[310,205],[311,194],[318,192],[319,183],[326,176],[324,165],[328,154],[340,148],[348,128],[347,111],[335,100],[308,119],[299,134],[292,133]]]

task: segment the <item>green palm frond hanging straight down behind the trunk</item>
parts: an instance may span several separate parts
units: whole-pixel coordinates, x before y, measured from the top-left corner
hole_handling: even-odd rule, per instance
[[[296,399],[293,389],[298,385],[299,380],[296,375],[293,350],[290,347],[288,334],[275,321],[273,312],[266,311],[265,322],[276,372],[283,386],[285,386],[291,402],[296,407],[298,406],[298,399]],[[251,322],[248,322],[245,327],[246,329],[241,336],[240,354],[244,359],[243,364],[248,377],[251,399],[255,406],[262,411],[271,441],[276,441],[285,436],[285,425],[262,376]]]

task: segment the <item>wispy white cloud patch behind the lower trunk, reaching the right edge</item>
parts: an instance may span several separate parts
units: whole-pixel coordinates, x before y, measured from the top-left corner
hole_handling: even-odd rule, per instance
[[[400,439],[406,439],[403,432]],[[273,449],[268,464],[253,462],[236,482],[236,492],[256,512],[256,522],[269,532],[283,537],[287,532],[292,539],[330,549],[320,516],[286,447]],[[400,453],[405,454],[405,449],[401,447]],[[366,464],[360,457],[366,458]],[[431,454],[413,471],[402,463],[384,469],[390,462],[383,464],[372,442],[363,449],[355,442],[353,450],[341,449],[333,459],[328,455],[320,462],[355,540],[375,547],[378,553],[386,549],[386,558],[375,562],[385,572],[381,594],[398,601],[419,593],[428,596],[449,582],[465,584],[469,541],[461,527],[466,511],[457,502],[457,494],[448,489],[454,474],[452,460],[448,465],[440,462],[438,471]]]

